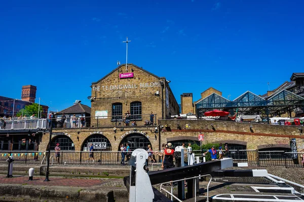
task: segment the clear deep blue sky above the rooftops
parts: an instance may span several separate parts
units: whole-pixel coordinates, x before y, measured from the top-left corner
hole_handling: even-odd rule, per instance
[[[263,94],[304,71],[303,1],[3,1],[0,95],[37,86],[50,110],[80,99],[128,62],[194,100],[209,87],[234,99]]]

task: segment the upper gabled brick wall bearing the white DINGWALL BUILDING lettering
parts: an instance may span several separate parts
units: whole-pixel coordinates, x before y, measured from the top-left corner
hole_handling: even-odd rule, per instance
[[[133,71],[132,71],[133,69]],[[119,74],[133,72],[133,78],[119,78]],[[108,116],[112,115],[112,104],[122,103],[123,114],[130,111],[130,104],[135,101],[141,102],[142,114],[153,112],[157,117],[162,116],[162,86],[165,77],[157,77],[149,74],[134,65],[121,66],[117,71],[107,75],[104,79],[92,84],[92,97],[96,97],[92,104],[91,116],[95,116],[95,111],[108,111]],[[113,87],[114,86],[114,87]],[[115,89],[115,86],[125,89]],[[169,90],[169,109],[166,108],[166,87]],[[97,90],[96,90],[97,89]],[[99,89],[99,90],[98,90]],[[156,95],[158,91],[158,95]],[[164,116],[169,112],[178,113],[178,104],[168,84],[164,86]]]

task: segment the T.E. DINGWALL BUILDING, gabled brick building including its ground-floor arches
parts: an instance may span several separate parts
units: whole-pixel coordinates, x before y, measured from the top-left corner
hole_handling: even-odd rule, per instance
[[[151,144],[158,150],[158,120],[179,113],[169,83],[133,64],[117,67],[92,83],[90,124],[63,129],[66,135],[54,135],[52,145],[58,142],[62,150],[87,150],[93,143],[95,150],[118,150],[121,143],[129,143],[133,150]],[[46,149],[47,136],[43,136],[41,150]]]

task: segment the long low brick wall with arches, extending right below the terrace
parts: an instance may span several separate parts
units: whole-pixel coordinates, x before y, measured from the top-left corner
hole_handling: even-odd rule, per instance
[[[167,143],[167,141],[198,140],[200,133],[204,134],[203,143],[229,142],[247,145],[247,149],[287,148],[290,138],[296,138],[298,150],[304,148],[304,139],[302,139],[302,134],[299,133],[298,126],[178,119],[159,119],[158,124],[164,126],[164,130],[160,131],[160,133],[155,133],[155,126],[135,127],[137,132],[142,131],[145,133],[142,136],[146,136],[149,139],[154,150],[158,150],[160,145]],[[181,127],[181,130],[177,129],[177,124]],[[186,124],[188,124],[188,128],[185,127]],[[64,132],[70,136],[74,142],[75,150],[81,150],[85,140],[90,135],[97,132],[102,133],[110,141],[112,150],[118,150],[121,140],[133,134],[133,130],[134,127],[124,127],[124,131],[120,131],[120,127],[118,127],[116,133],[113,128],[53,129],[53,132]],[[128,134],[126,134],[127,132]],[[46,133],[42,137],[39,149],[46,150],[48,141],[49,135]]]

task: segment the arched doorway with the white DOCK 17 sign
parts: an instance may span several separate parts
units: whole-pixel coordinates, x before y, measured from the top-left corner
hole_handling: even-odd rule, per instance
[[[93,144],[94,151],[111,151],[112,146],[108,138],[106,138],[102,134],[93,134],[87,137],[87,139],[84,141],[81,149],[83,151],[90,150],[90,144]]]

